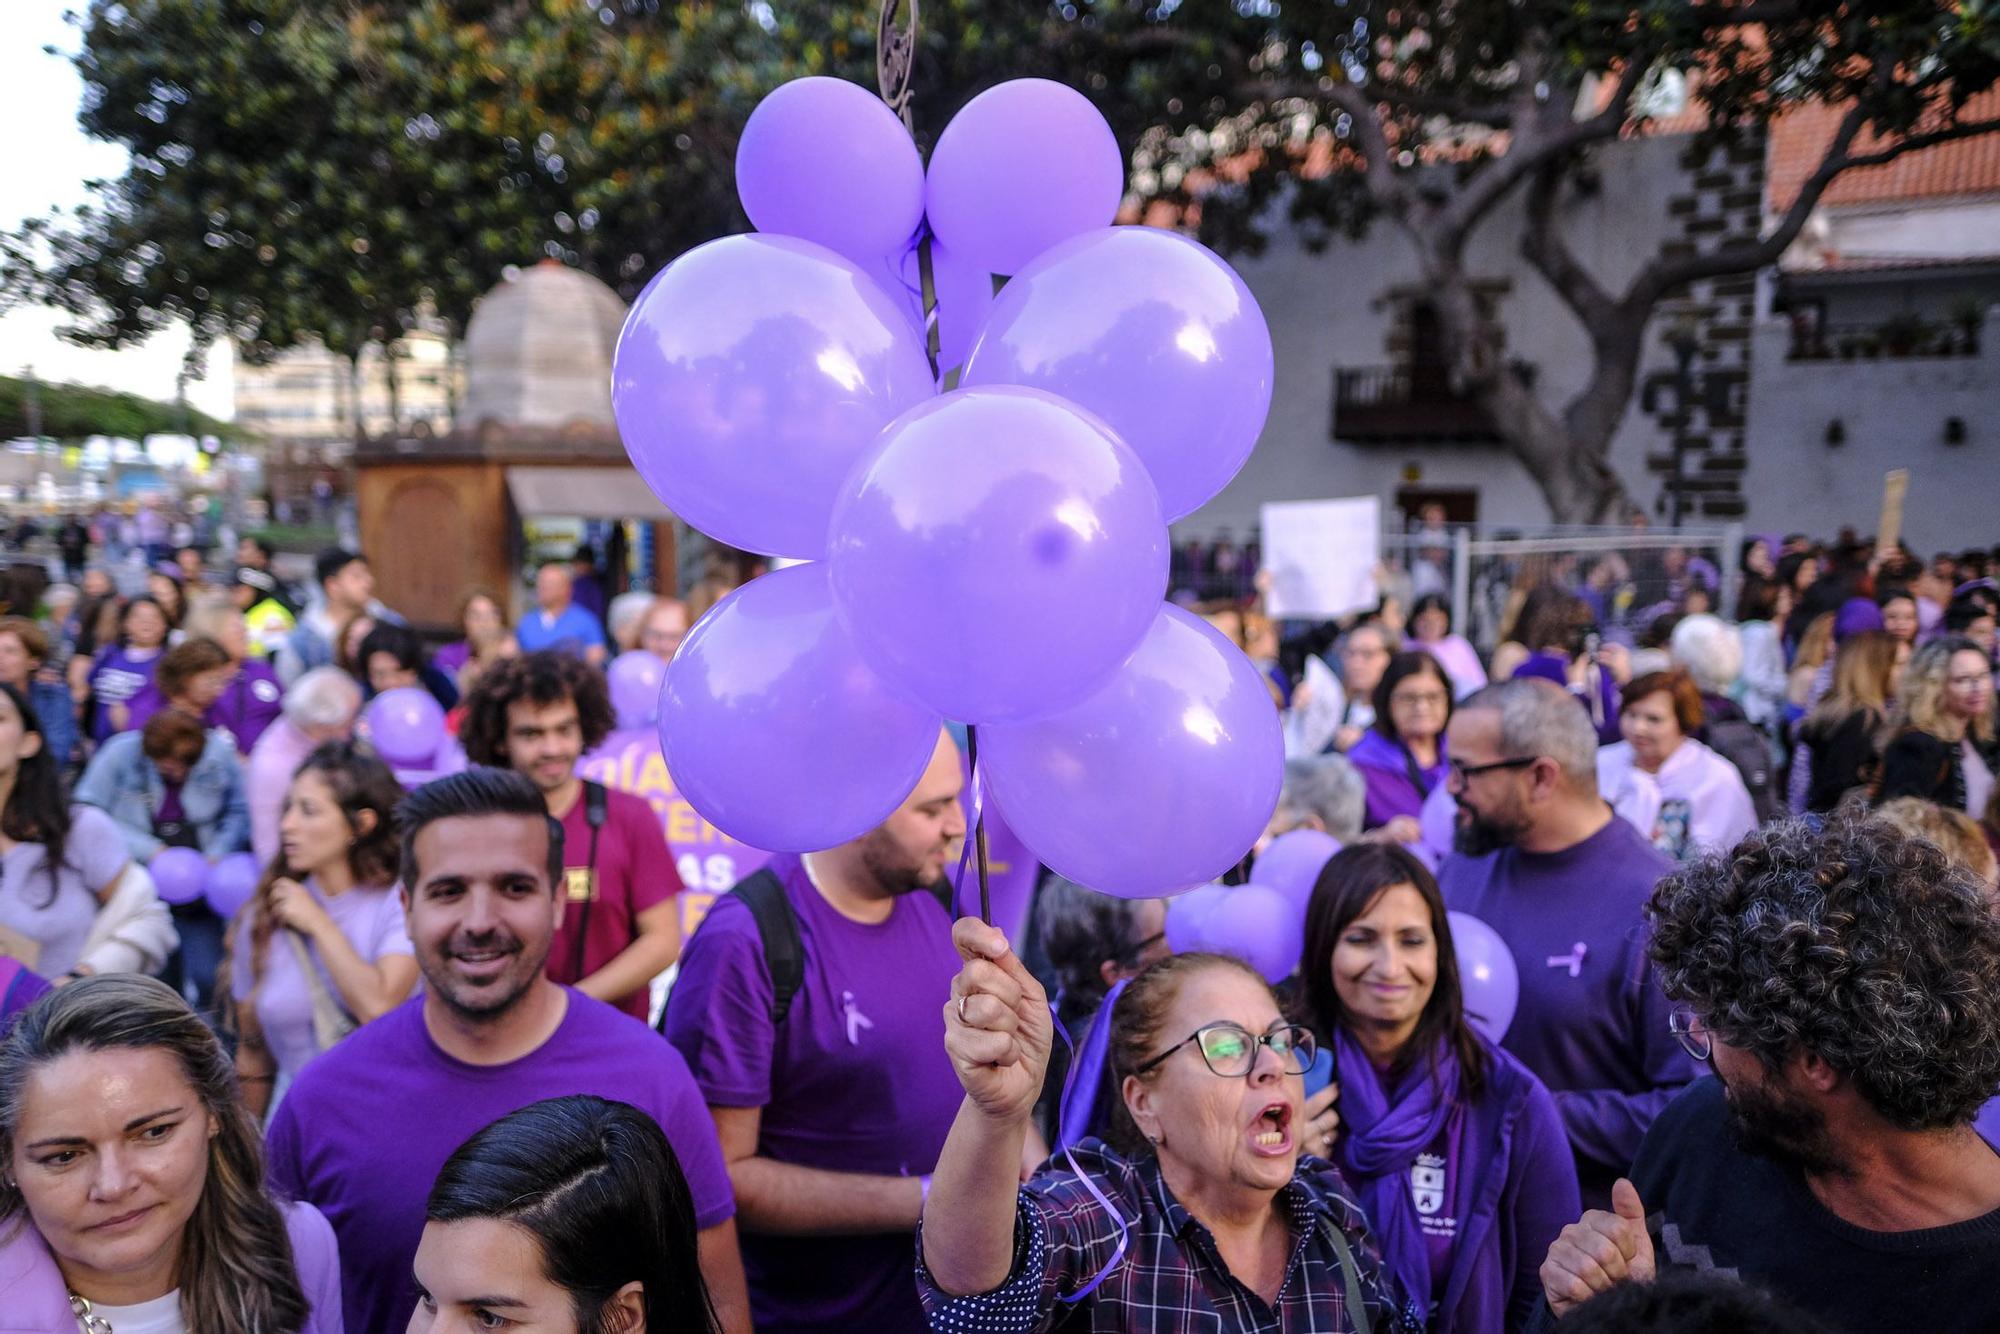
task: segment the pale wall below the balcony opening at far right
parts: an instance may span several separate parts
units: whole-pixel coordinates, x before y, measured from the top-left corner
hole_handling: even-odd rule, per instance
[[[1882,474],[1910,470],[1904,536],[1924,554],[2000,538],[2000,310],[1980,356],[1788,362],[1782,322],[1756,330],[1746,526],[1752,532],[1874,532]],[[1948,418],[1964,444],[1944,442]],[[1844,444],[1826,444],[1838,420]]]

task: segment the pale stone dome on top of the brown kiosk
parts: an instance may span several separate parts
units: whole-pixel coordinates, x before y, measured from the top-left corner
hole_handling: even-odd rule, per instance
[[[612,350],[626,304],[560,260],[512,270],[466,324],[460,426],[614,428]]]

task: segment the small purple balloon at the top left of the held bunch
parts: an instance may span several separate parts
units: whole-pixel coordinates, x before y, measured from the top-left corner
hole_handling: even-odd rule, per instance
[[[876,94],[844,78],[794,78],[744,124],[736,194],[756,230],[868,264],[924,218],[924,160]]]

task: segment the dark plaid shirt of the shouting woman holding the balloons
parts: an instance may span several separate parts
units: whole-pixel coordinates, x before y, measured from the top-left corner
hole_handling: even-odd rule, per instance
[[[1276,1304],[1264,1302],[1230,1274],[1214,1236],[1168,1190],[1154,1158],[1128,1162],[1100,1140],[1076,1146],[1076,1166],[1096,1180],[1132,1226],[1124,1260],[1076,1306],[1060,1302],[1102,1270],[1118,1248],[1118,1224],[1076,1174],[1044,1172],[1020,1188],[1014,1214],[1014,1268],[992,1292],[948,1296],[924,1268],[916,1246],[916,1288],[930,1328],[942,1334],[1026,1334],[1066,1330],[1174,1330],[1234,1334],[1348,1334],[1348,1290],[1340,1254],[1328,1232],[1338,1228],[1360,1266],[1362,1302],[1376,1334],[1414,1334],[1424,1314],[1404,1302],[1382,1272],[1368,1222],[1320,1158],[1300,1158],[1292,1182],[1278,1192],[1292,1222],[1292,1258]]]

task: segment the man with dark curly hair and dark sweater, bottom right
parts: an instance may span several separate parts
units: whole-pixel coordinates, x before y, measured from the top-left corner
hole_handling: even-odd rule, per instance
[[[1648,914],[1674,1034],[1716,1078],[1654,1120],[1612,1210],[1550,1246],[1538,1324],[1716,1270],[1846,1334],[1992,1330],[2000,1154],[1972,1130],[2000,1084],[1986,886],[1882,820],[1792,820],[1670,876]]]

